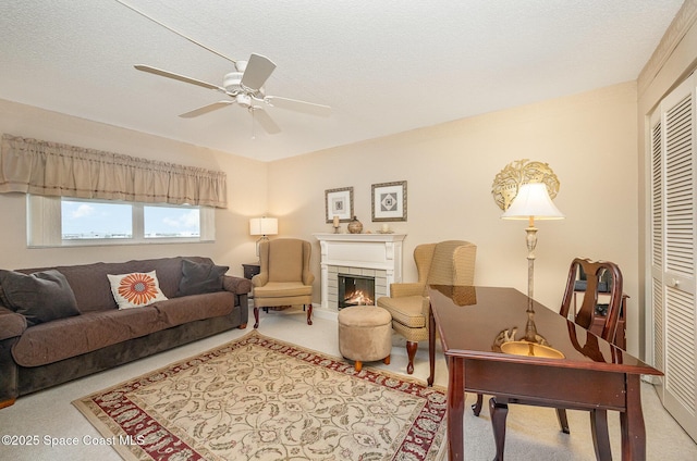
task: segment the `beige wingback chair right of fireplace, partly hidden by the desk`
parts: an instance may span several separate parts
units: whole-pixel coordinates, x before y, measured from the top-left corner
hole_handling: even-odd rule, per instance
[[[463,240],[419,245],[414,249],[418,282],[395,283],[378,306],[392,314],[392,328],[406,338],[408,374],[414,373],[418,342],[428,339],[429,285],[474,285],[477,247]]]

